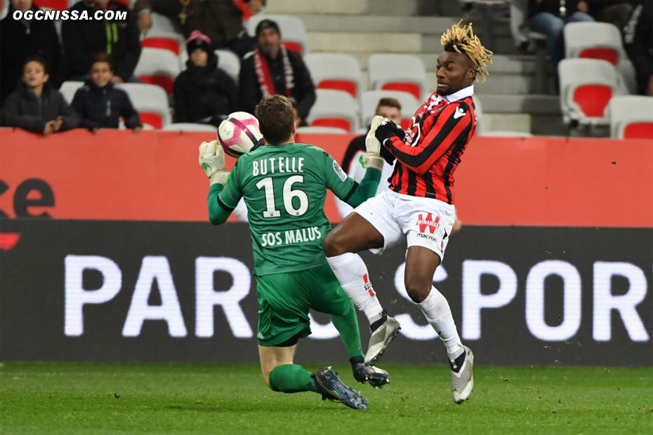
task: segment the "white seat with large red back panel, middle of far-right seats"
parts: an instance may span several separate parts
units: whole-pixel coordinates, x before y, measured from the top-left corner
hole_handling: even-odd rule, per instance
[[[608,124],[607,103],[622,95],[623,81],[614,66],[605,60],[563,59],[558,64],[562,119],[569,124]]]

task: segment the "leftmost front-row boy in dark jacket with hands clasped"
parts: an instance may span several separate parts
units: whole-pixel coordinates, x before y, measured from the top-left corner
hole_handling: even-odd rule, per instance
[[[50,135],[75,128],[79,119],[63,95],[48,83],[46,62],[27,58],[18,85],[2,105],[2,124]]]

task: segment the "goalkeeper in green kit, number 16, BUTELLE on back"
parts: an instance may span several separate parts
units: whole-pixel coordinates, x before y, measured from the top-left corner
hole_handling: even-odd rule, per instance
[[[263,379],[273,391],[315,391],[323,399],[367,409],[367,401],[343,384],[331,367],[310,373],[293,364],[293,356],[298,339],[310,335],[312,308],[331,315],[358,382],[381,387],[390,380],[385,370],[364,365],[355,308],[322,248],[331,229],[324,215],[326,189],[352,207],[374,196],[383,166],[380,144],[374,136],[368,141],[367,171],[359,184],[322,149],[294,142],[294,112],[288,98],[263,98],[256,117],[268,145],[240,156],[231,173],[226,173],[223,148],[215,140],[204,142],[199,163],[211,182],[211,223],[225,222],[241,198],[247,206]]]

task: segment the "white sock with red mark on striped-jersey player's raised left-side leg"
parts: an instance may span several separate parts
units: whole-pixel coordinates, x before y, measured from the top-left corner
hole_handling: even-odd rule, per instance
[[[336,257],[327,257],[326,260],[345,293],[354,302],[356,308],[367,316],[370,325],[381,319],[383,307],[376,298],[369,281],[367,266],[360,255],[345,253]]]

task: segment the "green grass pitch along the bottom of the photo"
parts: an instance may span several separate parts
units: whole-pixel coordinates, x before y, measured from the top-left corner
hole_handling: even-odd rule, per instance
[[[653,434],[652,368],[478,366],[459,406],[446,366],[383,367],[355,411],[270,391],[253,364],[4,363],[0,433]]]

